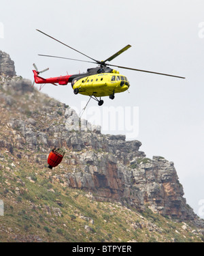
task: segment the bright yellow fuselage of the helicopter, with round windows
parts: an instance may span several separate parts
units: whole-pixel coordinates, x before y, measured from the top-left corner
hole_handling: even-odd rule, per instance
[[[115,70],[114,70],[115,71]],[[129,81],[118,71],[85,76],[73,81],[73,89],[87,96],[103,97],[117,94],[129,89]]]

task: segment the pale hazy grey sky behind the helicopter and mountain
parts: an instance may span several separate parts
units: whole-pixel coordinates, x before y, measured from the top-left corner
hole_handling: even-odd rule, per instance
[[[204,1],[1,0],[0,8],[0,50],[10,54],[18,75],[32,81],[33,62],[39,70],[50,68],[44,77],[95,67],[39,57],[89,60],[35,29],[99,60],[131,44],[111,63],[186,77],[118,68],[129,79],[129,92],[116,94],[114,100],[104,98],[101,107],[90,101],[82,117],[101,124],[103,133],[141,141],[140,149],[149,158],[164,156],[173,161],[187,203],[204,218]],[[46,85],[42,91],[78,113],[88,100],[74,95],[71,85]]]

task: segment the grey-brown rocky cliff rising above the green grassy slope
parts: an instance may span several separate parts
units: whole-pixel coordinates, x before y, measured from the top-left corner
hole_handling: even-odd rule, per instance
[[[64,147],[63,162],[55,168],[61,173],[54,177],[63,186],[86,190],[97,201],[120,202],[139,212],[148,207],[204,227],[186,204],[173,162],[161,156],[146,158],[139,151],[141,142],[101,134],[86,120],[75,130],[75,111],[33,89],[31,81],[14,76],[12,63],[4,64],[9,59],[0,59],[0,152],[7,150],[16,160],[27,159],[35,169],[46,170],[50,149]]]

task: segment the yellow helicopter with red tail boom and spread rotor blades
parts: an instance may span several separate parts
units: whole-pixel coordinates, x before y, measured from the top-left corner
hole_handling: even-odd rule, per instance
[[[53,38],[51,35],[48,35],[47,33],[44,33],[43,31],[40,31],[39,29],[36,29],[40,33],[43,33],[44,35],[48,36],[49,38],[52,38],[56,42],[59,42],[69,48],[71,48],[73,51],[76,51],[80,53],[81,55],[84,55],[85,57],[88,57],[88,59],[91,59],[91,61],[84,61],[81,59],[71,59],[67,57],[58,57],[54,55],[41,55],[44,57],[53,57],[53,58],[59,58],[59,59],[69,59],[74,61],[83,61],[88,63],[95,63],[98,64],[96,68],[88,68],[87,72],[84,72],[82,74],[67,74],[65,76],[57,76],[57,77],[51,77],[49,79],[44,79],[43,77],[39,76],[40,73],[47,71],[49,68],[46,68],[45,70],[38,71],[37,66],[35,63],[33,63],[33,66],[35,70],[33,70],[34,73],[34,83],[37,84],[46,84],[51,83],[52,85],[67,85],[67,83],[71,83],[71,87],[73,88],[74,94],[82,94],[89,96],[90,98],[97,100],[98,105],[101,106],[103,104],[103,100],[101,100],[101,97],[109,96],[110,99],[114,100],[115,94],[118,94],[120,92],[126,91],[130,87],[130,83],[126,76],[120,74],[118,70],[115,70],[111,67],[116,68],[122,68],[126,70],[135,70],[140,72],[148,72],[152,74],[160,74],[164,76],[173,76],[180,79],[185,79],[185,77],[182,76],[175,76],[172,74],[164,74],[164,73],[158,73],[158,72],[152,72],[148,70],[139,70],[136,68],[127,68],[124,66],[116,66],[113,64],[107,63],[107,61],[112,61],[118,55],[121,53],[124,53],[124,51],[128,50],[131,45],[128,44],[124,46],[120,51],[114,53],[111,57],[108,57],[105,59],[105,61],[98,61],[97,59],[93,59],[92,57],[89,57],[88,55],[76,50],[75,48],[65,44],[64,42],[61,42],[57,40],[56,38]]]

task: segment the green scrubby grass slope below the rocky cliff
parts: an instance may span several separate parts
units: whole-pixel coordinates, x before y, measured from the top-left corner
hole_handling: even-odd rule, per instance
[[[35,169],[22,158],[12,172],[4,168],[0,175],[5,205],[1,242],[202,242],[191,229],[182,229],[182,223],[154,214],[148,206],[139,213],[120,203],[89,199],[85,191],[56,178],[63,175],[60,169]]]

